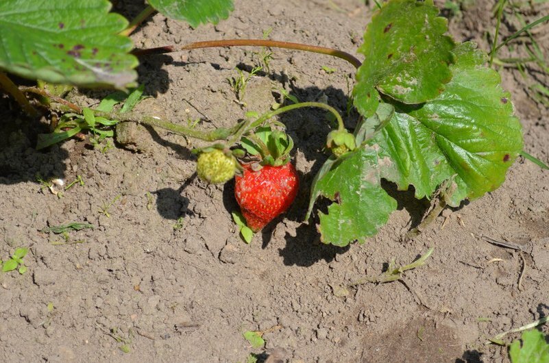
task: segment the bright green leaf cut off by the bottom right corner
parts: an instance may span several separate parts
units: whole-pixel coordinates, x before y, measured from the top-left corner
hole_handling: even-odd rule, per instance
[[[549,345],[541,331],[528,330],[522,333],[520,340],[515,340],[509,346],[511,363],[549,363]]]

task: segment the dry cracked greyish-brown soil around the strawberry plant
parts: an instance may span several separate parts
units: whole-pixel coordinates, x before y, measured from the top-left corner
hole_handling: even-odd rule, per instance
[[[494,3],[478,0],[452,18],[454,38],[488,49]],[[118,1],[115,10],[131,17],[143,6]],[[193,31],[156,14],[132,38],[136,47],[155,47],[261,38],[271,28],[276,40],[356,53],[372,6],[236,0],[236,10],[217,26]],[[537,5],[526,16],[547,12]],[[502,33],[517,27],[509,18]],[[548,55],[547,27],[535,36]],[[200,118],[202,128],[228,126],[247,110],[269,110],[282,88],[300,101],[327,100],[345,111],[352,66],[280,49],[273,49],[269,71],[250,80],[245,105],[237,102],[226,79],[238,75],[237,66],[247,74],[258,59],[254,51],[261,49],[144,58],[139,82],[153,98],[140,110],[184,124]],[[514,55],[521,54],[502,53]],[[530,71],[524,78],[515,68],[500,68],[524,125],[526,151],[548,162],[549,112],[528,91],[548,79]],[[104,95],[85,93],[75,101],[94,105]],[[47,130],[47,121],[22,118],[5,97],[0,103],[0,258],[29,247],[27,273],[0,274],[3,362],[244,362],[252,352],[294,363],[509,362],[507,349],[485,345],[487,338],[549,312],[549,173],[530,162],[519,160],[502,188],[446,210],[411,239],[405,235],[428,202],[387,185],[399,208],[378,236],[330,247],[319,242],[314,223],[301,222],[308,184],[326,158],[328,123],[324,112],[293,112],[280,121],[297,145],[300,194],[283,218],[246,245],[231,218],[234,186],[208,186],[195,177],[190,149],[200,143],[160,129],[130,129],[127,147],[110,140],[94,148],[86,138],[36,151],[36,134]],[[58,198],[36,181],[38,174],[65,183],[81,175],[85,184]],[[95,229],[68,236],[42,231],[75,221]],[[481,236],[530,249],[504,249]],[[364,284],[347,294],[339,289],[382,273],[391,260],[412,262],[429,247],[435,251],[428,263],[402,281]],[[264,349],[250,347],[242,336],[247,330],[263,331]],[[124,341],[129,353],[121,350]]]

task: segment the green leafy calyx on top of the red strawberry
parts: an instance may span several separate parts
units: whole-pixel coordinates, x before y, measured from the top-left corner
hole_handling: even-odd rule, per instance
[[[283,131],[263,126],[243,136],[241,145],[249,154],[260,159],[260,166],[282,166],[291,159],[293,140]]]

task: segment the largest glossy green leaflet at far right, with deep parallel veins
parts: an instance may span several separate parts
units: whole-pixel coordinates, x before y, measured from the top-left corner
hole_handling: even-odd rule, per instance
[[[380,147],[381,176],[415,197],[442,184],[452,206],[498,188],[522,150],[522,132],[509,92],[485,54],[470,42],[454,49],[453,77],[437,99],[400,105],[372,142]]]

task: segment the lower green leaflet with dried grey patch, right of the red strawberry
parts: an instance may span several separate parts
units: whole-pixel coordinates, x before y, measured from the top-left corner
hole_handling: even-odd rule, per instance
[[[307,218],[317,197],[327,197],[335,203],[328,207],[328,214],[319,212],[321,241],[340,247],[354,240],[364,242],[397,207],[380,186],[376,150],[361,147],[338,160],[330,157],[325,165],[313,182]]]

